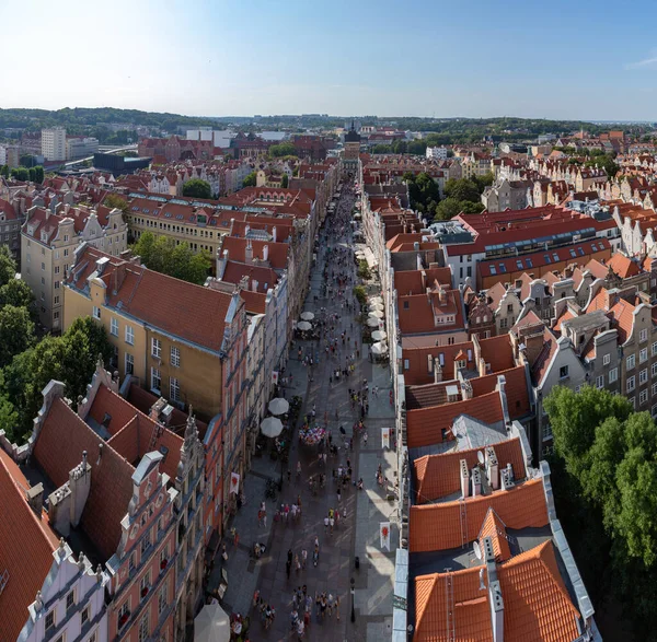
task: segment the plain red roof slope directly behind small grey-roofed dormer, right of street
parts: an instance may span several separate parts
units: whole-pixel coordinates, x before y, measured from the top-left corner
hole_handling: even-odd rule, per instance
[[[489,393],[443,406],[410,410],[406,413],[406,431],[410,448],[430,446],[443,441],[442,430],[452,427],[461,415],[468,415],[484,423],[503,421],[504,413],[499,393]]]

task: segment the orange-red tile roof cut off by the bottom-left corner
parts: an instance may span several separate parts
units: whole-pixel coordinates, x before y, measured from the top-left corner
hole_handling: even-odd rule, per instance
[[[27,621],[27,607],[34,602],[54,563],[57,538],[48,534],[27,504],[25,487],[14,479],[18,466],[0,450],[0,572],[9,581],[0,593],[0,637],[16,640]],[[49,530],[49,529],[48,529]]]

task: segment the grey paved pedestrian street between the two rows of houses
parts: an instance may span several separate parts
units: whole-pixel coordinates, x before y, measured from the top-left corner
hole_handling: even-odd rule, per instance
[[[353,202],[353,197],[346,203]],[[350,238],[343,238],[346,245]],[[291,358],[286,367],[286,375],[292,375],[292,381],[286,388],[286,397],[295,395],[303,397],[302,412],[310,411],[316,405],[316,418],[323,421],[324,413],[328,418],[328,430],[334,443],[342,442],[339,425],[346,430],[346,436],[353,436],[353,424],[356,412],[351,410],[347,388],[356,388],[358,383],[367,380],[370,390],[378,386],[379,394],[369,396],[369,413],[366,418],[368,431],[367,445],[354,439],[354,451],[341,447],[337,458],[328,456],[326,467],[320,466],[316,446],[306,446],[293,437],[290,451],[289,467],[296,470],[297,462],[301,463],[301,479],[287,481],[287,469],[284,475],[283,491],[277,498],[277,503],[292,503],[298,495],[301,497],[302,517],[292,524],[274,523],[273,515],[276,506],[273,501],[267,501],[267,523],[258,524],[257,512],[261,501],[264,500],[266,478],[280,477],[280,464],[273,462],[266,454],[253,460],[252,470],[246,475],[244,489],[247,502],[233,517],[232,526],[239,534],[239,546],[228,545],[229,560],[224,568],[229,576],[229,588],[226,593],[223,605],[229,611],[249,614],[252,618],[250,639],[253,640],[297,640],[290,632],[290,612],[292,609],[292,592],[297,586],[306,585],[308,593],[314,597],[315,592],[332,593],[339,596],[339,619],[334,612],[323,620],[315,612],[313,604],[312,622],[304,639],[320,641],[345,640],[378,640],[381,635],[390,635],[392,625],[392,590],[394,583],[394,546],[397,534],[391,536],[392,550],[382,551],[379,541],[379,523],[391,520],[395,503],[387,499],[382,487],[376,482],[379,464],[384,475],[394,482],[395,456],[392,451],[384,452],[381,444],[380,429],[394,425],[393,409],[389,401],[391,388],[390,372],[388,366],[372,364],[368,360],[368,350],[360,343],[360,325],[354,319],[354,313],[341,308],[341,301],[321,299],[322,270],[325,261],[325,248],[321,247],[318,265],[311,273],[311,289],[307,299],[306,310],[316,312],[326,307],[328,312],[341,315],[341,328],[346,330],[351,338],[357,338],[360,359],[356,360],[355,373],[339,383],[330,383],[330,376],[336,367],[337,361],[320,355],[319,364],[312,369],[304,366],[297,359],[297,349],[316,349],[310,341],[297,341],[291,350]],[[350,288],[349,288],[350,290]],[[318,297],[315,300],[315,296]],[[351,329],[353,328],[353,329]],[[348,350],[351,352],[351,348]],[[365,354],[364,354],[365,352]],[[347,353],[347,347],[343,350]],[[338,501],[336,485],[332,479],[332,471],[339,465],[345,465],[350,458],[354,468],[354,479],[362,477],[364,490],[359,491],[354,486],[344,489]],[[287,468],[287,466],[286,466]],[[308,478],[319,472],[326,474],[326,486],[316,494],[309,490]],[[347,518],[341,520],[334,533],[324,532],[324,516],[331,507],[339,507],[341,513],[346,509]],[[316,568],[312,564],[313,540],[320,540],[320,559]],[[250,559],[250,550],[255,541],[266,545],[266,553],[257,561]],[[299,553],[308,551],[308,565],[297,573],[291,571],[287,577],[286,561],[288,550]],[[359,569],[355,568],[355,557],[360,559]],[[220,561],[218,558],[217,562]],[[214,571],[220,572],[220,565]],[[350,621],[351,596],[350,579],[355,580],[355,616],[356,621]],[[255,590],[260,590],[263,599],[276,609],[276,619],[273,626],[265,630],[258,621],[257,615],[252,609],[252,598]]]

